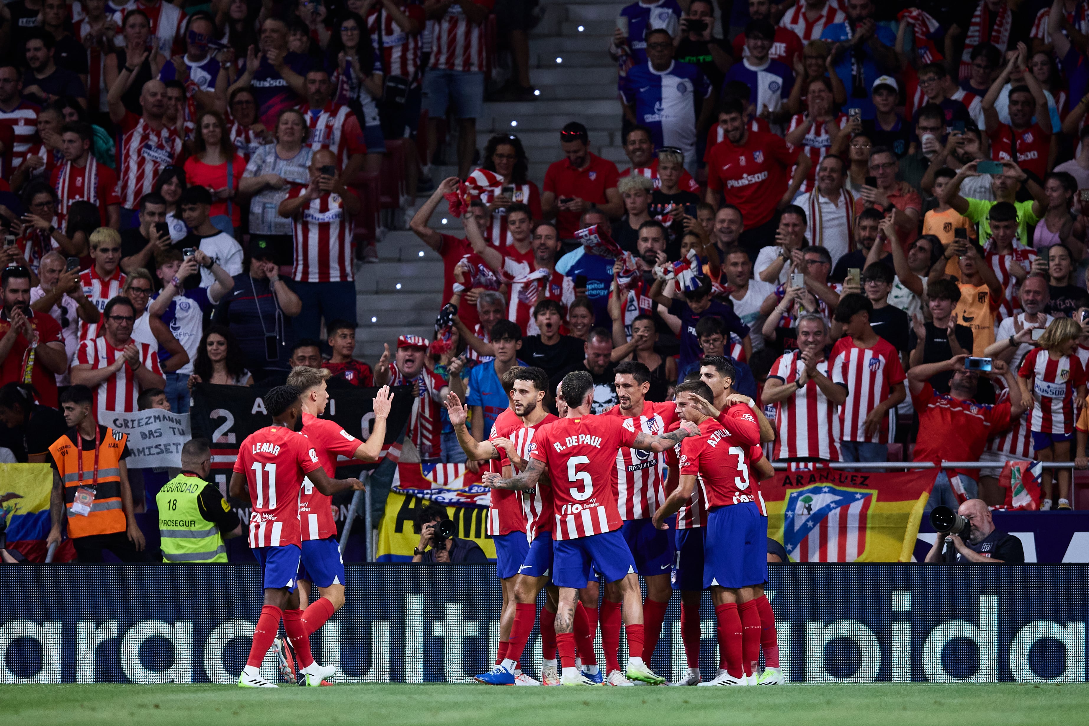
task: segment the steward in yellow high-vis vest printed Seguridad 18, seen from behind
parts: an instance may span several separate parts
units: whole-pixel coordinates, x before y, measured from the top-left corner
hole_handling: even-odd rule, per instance
[[[211,451],[204,439],[182,446],[182,472],[155,496],[159,508],[162,562],[227,562],[224,539],[242,533],[238,515],[206,480],[211,472]]]

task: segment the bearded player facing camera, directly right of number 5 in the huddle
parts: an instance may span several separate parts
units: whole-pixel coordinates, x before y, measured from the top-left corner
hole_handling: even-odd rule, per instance
[[[616,366],[616,397],[603,416],[619,417],[624,426],[649,434],[663,433],[677,428],[676,404],[654,403],[646,399],[650,390],[650,369],[632,360]],[[616,488],[616,505],[624,520],[621,533],[635,558],[636,571],[647,582],[647,598],[643,602],[644,643],[643,661],[650,656],[658,644],[658,637],[670,602],[670,567],[673,564],[673,538],[657,529],[651,520],[654,510],[665,501],[662,475],[665,457],[670,452],[654,454],[637,448],[622,447],[616,452],[616,466],[612,477]],[[605,681],[612,686],[629,686],[617,665],[620,650],[621,603],[616,583],[605,586],[601,601],[601,647],[605,655]]]

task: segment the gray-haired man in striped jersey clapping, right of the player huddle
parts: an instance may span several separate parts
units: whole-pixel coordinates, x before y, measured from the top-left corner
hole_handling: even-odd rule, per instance
[[[776,462],[839,462],[831,432],[836,406],[847,399],[843,371],[829,370],[828,321],[815,312],[798,318],[798,349],[780,356],[763,384],[763,403],[775,405]],[[813,426],[813,422],[817,426]]]

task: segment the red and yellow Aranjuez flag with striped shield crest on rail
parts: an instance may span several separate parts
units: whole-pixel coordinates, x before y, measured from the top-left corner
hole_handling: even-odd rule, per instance
[[[910,562],[935,470],[785,471],[760,482],[768,536],[795,562]]]

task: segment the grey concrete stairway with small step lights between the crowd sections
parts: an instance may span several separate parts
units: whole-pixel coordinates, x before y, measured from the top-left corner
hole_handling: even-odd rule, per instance
[[[485,103],[477,119],[477,147],[482,151],[495,133],[517,134],[529,157],[529,177],[540,186],[548,165],[563,156],[560,128],[579,121],[590,132],[591,150],[624,169],[616,66],[605,52],[624,3],[541,0],[541,4],[544,17],[529,41],[530,78],[540,97],[524,103]],[[436,183],[452,174],[454,167],[431,168]],[[431,218],[431,227],[462,236],[461,221],[449,217],[445,202]],[[371,366],[383,344],[393,352],[399,335],[431,340],[442,304],[442,260],[415,234],[388,233],[378,243],[378,255],[379,262],[356,268],[355,352]]]

